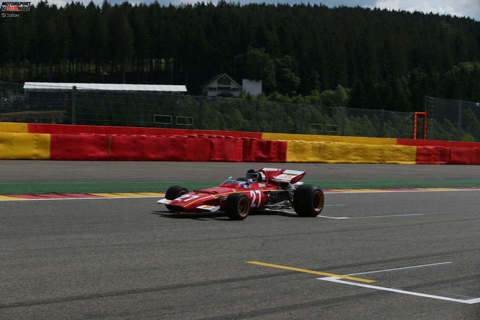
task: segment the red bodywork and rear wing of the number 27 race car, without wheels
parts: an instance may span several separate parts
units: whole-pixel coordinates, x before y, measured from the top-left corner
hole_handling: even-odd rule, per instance
[[[289,184],[294,184],[303,178],[305,172],[299,175],[284,174],[283,169],[273,171],[261,169],[259,172],[262,175],[263,182],[254,182],[251,184],[237,183],[222,183],[218,187],[203,189],[200,191],[190,191],[170,203],[166,207],[174,212],[205,212],[210,208],[198,209],[199,206],[220,206],[219,210],[225,206],[225,199],[228,195],[241,192],[244,193],[250,200],[251,209],[260,209],[267,202],[267,195],[269,192],[283,191]],[[285,182],[281,179],[287,179]],[[227,180],[228,181],[228,180]],[[233,182],[233,181],[232,181]]]

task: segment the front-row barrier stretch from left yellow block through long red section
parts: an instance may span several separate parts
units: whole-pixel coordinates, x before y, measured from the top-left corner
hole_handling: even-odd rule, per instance
[[[0,133],[0,159],[285,162],[286,141],[213,135]]]

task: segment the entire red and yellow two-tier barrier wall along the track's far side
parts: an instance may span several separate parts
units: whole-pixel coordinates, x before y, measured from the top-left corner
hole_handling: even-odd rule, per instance
[[[0,123],[0,159],[480,164],[480,143]]]

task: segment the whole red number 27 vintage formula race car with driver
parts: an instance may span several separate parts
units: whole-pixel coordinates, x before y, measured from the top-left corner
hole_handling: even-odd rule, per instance
[[[190,191],[168,188],[157,203],[177,213],[225,211],[232,220],[243,220],[250,210],[292,209],[301,216],[317,216],[323,209],[323,191],[299,182],[303,171],[262,168],[250,169],[245,178],[232,177],[218,187]]]

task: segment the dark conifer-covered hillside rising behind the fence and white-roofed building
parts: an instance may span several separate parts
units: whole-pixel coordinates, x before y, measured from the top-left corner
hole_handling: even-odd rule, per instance
[[[22,30],[19,36],[19,30]],[[351,88],[349,107],[480,101],[480,22],[324,5],[86,6],[40,2],[1,19],[0,79],[187,84],[262,78],[267,93]]]

